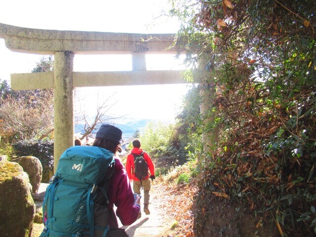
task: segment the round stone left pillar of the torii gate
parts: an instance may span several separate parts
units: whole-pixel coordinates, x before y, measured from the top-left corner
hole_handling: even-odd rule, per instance
[[[54,172],[61,154],[74,143],[74,53],[54,54]],[[56,164],[56,165],[55,165]]]

